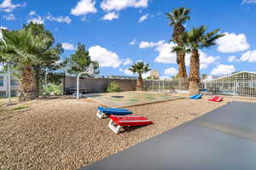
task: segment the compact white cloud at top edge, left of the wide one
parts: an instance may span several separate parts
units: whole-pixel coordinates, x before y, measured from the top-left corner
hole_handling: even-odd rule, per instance
[[[94,0],[80,0],[79,3],[71,9],[71,14],[75,16],[86,15],[86,14],[95,14],[97,9],[95,7],[96,1]]]

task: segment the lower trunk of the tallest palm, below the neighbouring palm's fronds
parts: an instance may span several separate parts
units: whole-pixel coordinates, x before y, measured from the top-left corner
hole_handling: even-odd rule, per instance
[[[185,65],[185,54],[177,53],[177,65],[178,65],[178,84],[180,89],[188,89],[189,82],[187,80],[187,69]]]

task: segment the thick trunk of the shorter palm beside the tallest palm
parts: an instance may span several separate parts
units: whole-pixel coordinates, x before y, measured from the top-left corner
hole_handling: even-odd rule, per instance
[[[190,70],[189,70],[189,91],[190,94],[199,93],[200,82],[200,58],[198,49],[193,49],[190,57]]]

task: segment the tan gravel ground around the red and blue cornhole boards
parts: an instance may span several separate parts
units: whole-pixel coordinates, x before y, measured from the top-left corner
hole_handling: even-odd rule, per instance
[[[154,124],[114,134],[96,118],[95,102],[51,99],[0,120],[0,169],[76,169],[177,127],[233,100],[176,101],[129,108]],[[253,101],[236,99],[242,101]]]

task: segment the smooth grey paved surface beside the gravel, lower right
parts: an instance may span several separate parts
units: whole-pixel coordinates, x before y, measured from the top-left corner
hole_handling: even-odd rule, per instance
[[[82,170],[255,170],[256,104],[232,102]]]

